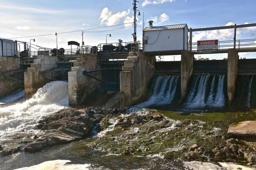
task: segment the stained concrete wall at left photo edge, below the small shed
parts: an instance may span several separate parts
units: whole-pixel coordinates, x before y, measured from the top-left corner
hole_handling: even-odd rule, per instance
[[[19,68],[19,57],[0,57],[0,72],[11,71]],[[6,75],[10,77],[17,77],[17,74],[15,73],[9,73]],[[20,88],[20,86],[17,83],[0,75],[0,97],[11,94],[18,88]]]

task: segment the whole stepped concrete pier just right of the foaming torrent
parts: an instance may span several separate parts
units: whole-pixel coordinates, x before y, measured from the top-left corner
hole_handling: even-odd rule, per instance
[[[100,82],[82,74],[82,71],[100,69],[97,63],[98,57],[94,54],[82,54],[78,62],[74,63],[75,67],[68,72],[68,90],[69,90],[69,105],[79,105],[84,99],[99,90]],[[90,73],[92,76],[101,79],[101,72]]]

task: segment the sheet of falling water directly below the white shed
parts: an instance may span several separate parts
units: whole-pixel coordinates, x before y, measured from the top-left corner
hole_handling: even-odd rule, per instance
[[[157,76],[152,82],[151,93],[147,101],[130,108],[130,112],[137,112],[148,106],[163,106],[171,104],[176,93],[179,76]]]

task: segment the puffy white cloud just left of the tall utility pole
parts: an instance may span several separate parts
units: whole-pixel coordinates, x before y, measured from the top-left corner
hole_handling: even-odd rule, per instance
[[[122,18],[125,18],[130,13],[130,9],[127,11],[117,12],[116,14],[112,14],[111,11],[106,7],[102,9],[99,20],[101,20],[101,24],[106,24],[107,26],[113,26],[119,23]],[[125,18],[128,20],[127,18]]]

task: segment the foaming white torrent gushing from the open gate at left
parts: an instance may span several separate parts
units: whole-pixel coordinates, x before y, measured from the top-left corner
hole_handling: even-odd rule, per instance
[[[0,140],[19,133],[40,133],[36,127],[38,120],[67,106],[68,83],[47,83],[31,99],[0,107]]]

